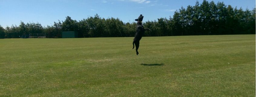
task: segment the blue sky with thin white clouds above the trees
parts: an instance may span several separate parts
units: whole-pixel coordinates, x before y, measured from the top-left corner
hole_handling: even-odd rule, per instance
[[[198,0],[201,4],[203,0]],[[252,10],[255,0],[208,0],[224,2],[232,7]],[[144,21],[172,17],[183,6],[195,5],[196,0],[0,0],[0,25],[2,27],[24,23],[53,25],[70,16],[73,20],[86,19],[98,14],[101,18],[119,18],[134,22],[140,14]]]

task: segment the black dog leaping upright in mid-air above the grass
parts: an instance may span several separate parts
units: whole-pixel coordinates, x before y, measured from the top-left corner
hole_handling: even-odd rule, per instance
[[[134,49],[134,44],[136,46],[136,54],[138,55],[139,52],[138,52],[138,49],[139,49],[139,46],[140,46],[140,40],[141,40],[141,37],[142,35],[145,33],[145,31],[149,30],[151,31],[150,29],[148,28],[144,28],[142,26],[142,20],[143,20],[144,16],[140,15],[138,19],[135,19],[135,21],[137,21],[137,25],[136,25],[136,34],[135,34],[135,37],[133,39],[133,48]]]

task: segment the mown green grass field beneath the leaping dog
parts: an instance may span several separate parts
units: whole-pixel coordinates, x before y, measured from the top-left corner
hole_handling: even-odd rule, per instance
[[[255,35],[0,39],[0,97],[255,97]]]

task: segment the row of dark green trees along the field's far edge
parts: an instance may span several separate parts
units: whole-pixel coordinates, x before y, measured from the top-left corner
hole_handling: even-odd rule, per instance
[[[173,17],[158,18],[156,21],[143,22],[144,36],[181,36],[181,35],[224,35],[255,34],[255,8],[243,10],[204,0],[194,6],[181,7]],[[124,23],[119,18],[94,17],[76,21],[67,16],[65,21],[54,22],[42,27],[40,23],[24,23],[3,28],[0,25],[0,38],[19,38],[23,34],[46,34],[48,38],[61,38],[62,31],[77,31],[78,37],[133,37],[136,22]]]

